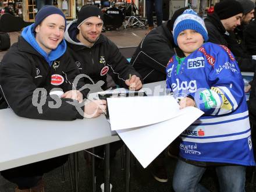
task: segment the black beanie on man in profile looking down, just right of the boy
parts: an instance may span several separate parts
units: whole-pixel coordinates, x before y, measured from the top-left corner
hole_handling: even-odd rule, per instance
[[[241,4],[234,0],[223,0],[216,3],[214,12],[219,16],[219,19],[227,19],[239,13],[243,13]]]

